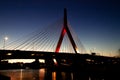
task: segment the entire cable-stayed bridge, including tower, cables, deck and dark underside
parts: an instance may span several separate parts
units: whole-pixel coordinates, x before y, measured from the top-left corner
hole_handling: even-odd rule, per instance
[[[66,9],[64,9],[62,20],[4,46],[0,50],[1,66],[8,65],[5,63],[6,59],[35,59],[32,63],[35,67],[41,67],[39,59],[44,59],[44,67],[75,68],[78,66],[86,67],[86,69],[89,69],[88,65],[97,65],[97,67],[102,65],[104,68],[106,66],[103,65],[119,65],[120,62],[119,58],[96,56],[94,53],[93,55],[86,54],[84,46],[67,21]]]

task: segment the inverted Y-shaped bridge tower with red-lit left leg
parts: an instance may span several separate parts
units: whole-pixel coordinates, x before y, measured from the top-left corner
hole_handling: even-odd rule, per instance
[[[66,10],[66,8],[65,8],[65,9],[64,9],[64,25],[63,25],[63,28],[62,28],[61,35],[60,35],[60,37],[59,37],[58,44],[57,44],[57,46],[56,46],[56,50],[55,50],[56,53],[59,53],[61,43],[62,43],[63,38],[64,38],[64,35],[65,35],[66,33],[67,33],[67,35],[68,35],[68,37],[69,37],[69,39],[70,39],[70,42],[71,42],[71,44],[72,44],[72,47],[73,47],[75,53],[77,53],[77,46],[76,46],[76,44],[75,44],[75,41],[73,40],[73,37],[72,37],[72,35],[71,35],[71,33],[70,33],[69,28],[68,28],[68,23],[67,23],[67,10]]]

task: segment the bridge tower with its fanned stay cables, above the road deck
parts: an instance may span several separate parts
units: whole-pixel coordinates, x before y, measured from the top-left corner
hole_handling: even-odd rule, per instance
[[[85,48],[67,21],[66,10],[64,18],[6,44],[4,48],[6,50],[85,53]]]

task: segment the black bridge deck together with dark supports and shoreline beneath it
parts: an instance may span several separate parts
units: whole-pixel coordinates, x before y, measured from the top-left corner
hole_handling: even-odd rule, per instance
[[[0,60],[5,59],[35,59],[36,64],[39,64],[39,59],[45,60],[44,67],[88,67],[96,66],[99,68],[112,67],[120,65],[120,58],[97,56],[91,54],[71,54],[71,53],[55,53],[55,52],[40,52],[40,51],[21,51],[21,50],[0,50]],[[54,59],[57,61],[55,65]],[[37,63],[38,62],[38,63]],[[35,65],[34,65],[35,66]],[[37,66],[36,66],[37,67]]]

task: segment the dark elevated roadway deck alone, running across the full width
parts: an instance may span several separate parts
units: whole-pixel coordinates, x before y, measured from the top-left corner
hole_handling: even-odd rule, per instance
[[[55,53],[41,51],[0,50],[0,60],[4,59],[57,59],[69,60],[71,63],[88,64],[118,64],[120,58],[97,56],[91,54]]]

